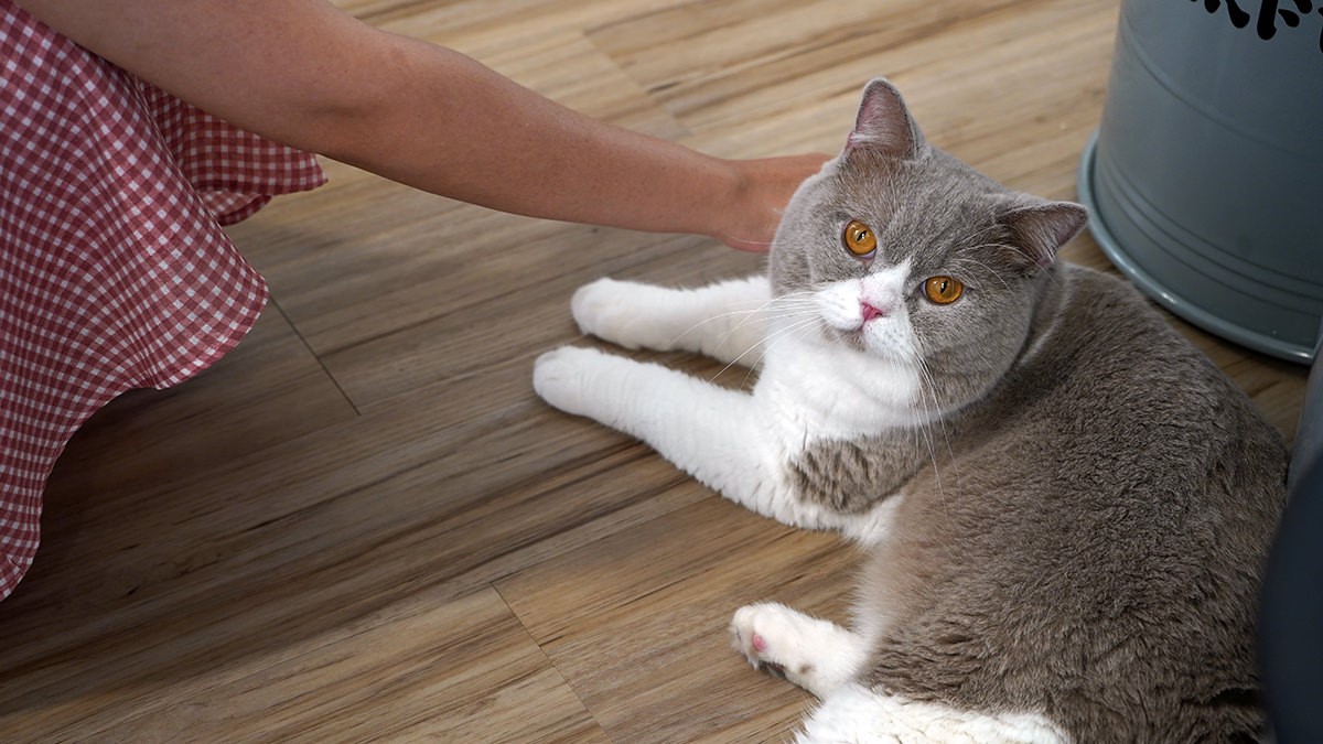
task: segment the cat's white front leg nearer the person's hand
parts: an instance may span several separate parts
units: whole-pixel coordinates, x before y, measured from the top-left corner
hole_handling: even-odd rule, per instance
[[[585,334],[624,348],[693,351],[754,367],[770,303],[763,275],[692,290],[598,279],[574,293],[570,311]]]

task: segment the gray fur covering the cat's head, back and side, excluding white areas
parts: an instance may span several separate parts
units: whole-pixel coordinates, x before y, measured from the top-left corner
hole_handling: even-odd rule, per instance
[[[904,259],[967,286],[949,306],[906,299],[937,421],[787,465],[802,498],[840,511],[904,495],[860,588],[860,612],[888,618],[865,679],[1043,711],[1077,741],[1256,739],[1281,436],[1127,285],[1054,262],[1081,208],[927,146],[892,94],[871,87],[771,257],[778,294]],[[849,218],[873,226],[872,263],[840,249]]]

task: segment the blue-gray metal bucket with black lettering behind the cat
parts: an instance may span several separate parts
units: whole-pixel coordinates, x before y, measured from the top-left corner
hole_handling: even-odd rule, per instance
[[[1080,199],[1176,315],[1308,363],[1323,318],[1323,3],[1125,0]]]

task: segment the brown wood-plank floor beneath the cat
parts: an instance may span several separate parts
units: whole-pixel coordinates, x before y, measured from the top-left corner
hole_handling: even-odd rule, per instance
[[[343,5],[720,155],[836,151],[885,74],[935,144],[1064,199],[1117,13]],[[811,700],[737,658],[726,620],[761,598],[841,617],[856,552],[722,502],[529,381],[537,353],[578,339],[576,286],[692,285],[762,259],[327,167],[329,185],[233,229],[273,289],[249,339],[191,383],[118,400],[60,461],[37,563],[0,602],[0,740],[782,740]],[[1066,256],[1106,265],[1088,236]],[[1294,434],[1303,368],[1185,330]]]

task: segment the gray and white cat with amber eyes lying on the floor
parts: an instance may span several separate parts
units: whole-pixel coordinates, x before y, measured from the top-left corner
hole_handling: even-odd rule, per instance
[[[725,498],[868,547],[853,622],[745,606],[820,698],[799,741],[1225,741],[1286,447],[1129,285],[1057,259],[1085,208],[930,146],[886,79],[786,208],[766,275],[581,287],[581,328],[758,369],[751,392],[562,347],[550,405]]]

